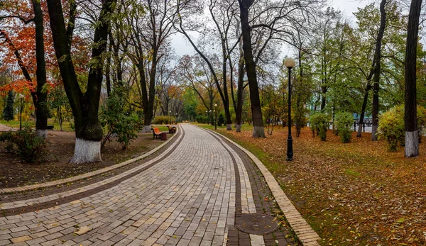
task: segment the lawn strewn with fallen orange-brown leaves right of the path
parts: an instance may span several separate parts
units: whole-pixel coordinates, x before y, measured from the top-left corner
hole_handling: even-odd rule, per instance
[[[264,139],[251,138],[251,125],[217,131],[268,167],[321,245],[426,245],[425,143],[419,157],[406,159],[403,147],[388,152],[371,133],[342,143],[329,130],[322,142],[305,127],[293,135],[293,161],[286,162],[288,128]]]

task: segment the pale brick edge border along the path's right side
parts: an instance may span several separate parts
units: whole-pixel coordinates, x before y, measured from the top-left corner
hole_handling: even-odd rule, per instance
[[[209,129],[207,129],[209,130]],[[273,196],[275,197],[275,201],[277,201],[278,206],[280,206],[281,211],[283,211],[285,218],[288,220],[290,227],[294,230],[297,238],[302,242],[302,245],[305,246],[319,246],[317,240],[321,240],[321,237],[315,232],[314,229],[306,222],[306,220],[302,217],[302,215],[297,211],[293,203],[291,203],[290,199],[285,195],[283,189],[281,189],[278,182],[275,180],[271,172],[263,165],[261,160],[253,155],[249,150],[246,150],[244,147],[241,147],[236,142],[226,138],[224,135],[215,132],[214,130],[210,130],[213,133],[219,134],[222,138],[228,140],[236,147],[239,147],[240,150],[244,151],[246,155],[248,155],[251,160],[256,164],[258,169],[261,170],[263,177],[265,177],[266,183],[271,189]]]

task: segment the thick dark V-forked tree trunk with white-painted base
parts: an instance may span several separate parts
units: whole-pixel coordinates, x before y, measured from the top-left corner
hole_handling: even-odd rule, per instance
[[[71,60],[69,43],[65,42],[67,30],[60,0],[47,0],[52,29],[53,45],[58,59],[60,74],[65,92],[72,108],[75,121],[75,150],[70,162],[99,162],[101,159],[102,126],[99,123],[99,99],[102,88],[103,64],[102,54],[107,50],[107,35],[110,23],[111,7],[116,0],[103,0],[99,12],[99,25],[94,30],[92,48],[93,65],[89,69],[87,91],[82,90],[77,82],[74,65]]]

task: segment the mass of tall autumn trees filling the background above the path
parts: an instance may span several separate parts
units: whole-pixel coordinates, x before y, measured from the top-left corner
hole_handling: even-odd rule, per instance
[[[371,112],[375,140],[383,109],[407,98],[405,118],[415,115],[413,74],[424,53],[410,31],[418,30],[421,1],[413,0],[419,2],[410,16],[395,0],[369,4],[355,13],[354,27],[322,0],[1,1],[1,64],[20,74],[3,89],[28,91],[36,129],[46,136],[48,94],[55,95],[50,98],[60,115],[63,85],[75,121],[72,162],[101,160],[99,105],[103,94],[117,90],[126,95],[123,110],[143,111],[143,132],[156,114],[195,118],[219,104],[227,130],[235,123],[240,131],[246,117],[253,137],[263,138],[264,118],[285,118],[279,50],[288,47],[298,62],[292,88],[297,122],[312,109],[360,113],[362,125]],[[408,35],[407,26],[415,28]],[[178,34],[195,55],[173,55],[170,40]]]

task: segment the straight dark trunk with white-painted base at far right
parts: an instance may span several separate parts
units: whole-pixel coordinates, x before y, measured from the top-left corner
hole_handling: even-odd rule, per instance
[[[407,45],[405,47],[405,157],[419,155],[416,63],[421,9],[422,0],[411,1],[410,16],[408,16]]]

